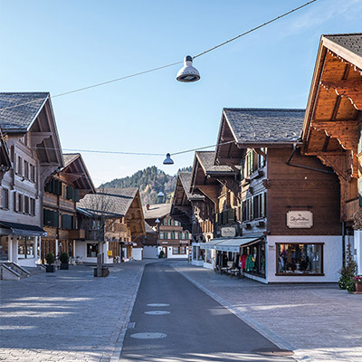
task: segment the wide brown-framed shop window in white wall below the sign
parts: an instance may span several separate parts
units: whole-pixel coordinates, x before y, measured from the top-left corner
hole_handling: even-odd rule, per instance
[[[323,243],[276,243],[277,275],[323,275]]]

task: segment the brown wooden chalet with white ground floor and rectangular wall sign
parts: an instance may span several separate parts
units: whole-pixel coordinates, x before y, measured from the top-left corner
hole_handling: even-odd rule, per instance
[[[258,281],[338,281],[338,178],[318,157],[300,154],[304,113],[223,110],[214,164],[241,166],[243,236],[214,248],[239,244],[240,260],[252,262],[244,274]]]

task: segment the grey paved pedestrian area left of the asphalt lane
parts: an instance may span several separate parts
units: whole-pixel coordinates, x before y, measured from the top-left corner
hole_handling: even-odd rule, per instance
[[[146,263],[115,264],[107,278],[77,265],[0,281],[0,360],[110,361],[119,354]]]

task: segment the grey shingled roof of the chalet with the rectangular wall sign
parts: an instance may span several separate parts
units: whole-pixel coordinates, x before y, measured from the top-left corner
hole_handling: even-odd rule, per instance
[[[305,110],[224,109],[224,119],[241,145],[288,144],[300,138]]]

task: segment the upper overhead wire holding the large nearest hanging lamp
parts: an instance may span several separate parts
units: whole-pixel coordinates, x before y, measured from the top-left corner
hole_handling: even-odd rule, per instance
[[[315,3],[316,1],[318,1],[318,0],[312,0],[312,1],[310,1],[309,3],[306,3],[306,4],[304,4],[304,5],[300,5],[300,6],[296,7],[295,9],[292,9],[291,11],[289,11],[289,12],[287,12],[287,13],[281,14],[280,16],[277,16],[277,17],[271,19],[269,22],[266,22],[266,23],[264,23],[264,24],[261,24],[261,25],[259,25],[259,26],[256,26],[255,28],[252,28],[251,30],[248,30],[248,31],[245,32],[245,33],[241,33],[240,35],[234,36],[232,39],[229,39],[229,40],[227,40],[227,41],[224,42],[224,43],[218,44],[218,45],[214,46],[213,48],[210,48],[210,49],[206,50],[205,52],[200,52],[199,54],[196,54],[196,55],[193,57],[193,59],[195,59],[195,58],[197,58],[197,57],[200,57],[200,56],[206,54],[207,52],[212,52],[212,51],[214,51],[215,49],[220,48],[221,46],[223,46],[223,45],[225,45],[225,44],[227,44],[227,43],[231,43],[231,42],[233,42],[234,40],[239,39],[239,38],[241,38],[242,36],[244,36],[244,35],[246,35],[246,34],[248,34],[248,33],[252,33],[252,32],[254,32],[254,31],[257,30],[257,29],[260,29],[260,28],[262,28],[262,27],[265,26],[265,25],[271,24],[271,23],[273,23],[273,22],[281,19],[282,17],[284,17],[284,16],[286,16],[286,15],[289,15],[289,14],[291,14],[291,13],[296,12],[297,10],[300,10],[300,9],[303,8],[304,6],[307,6],[307,5],[310,5],[310,4],[312,4],[312,3]],[[68,95],[68,94],[77,93],[77,92],[82,91],[82,90],[90,90],[91,88],[100,87],[100,86],[102,86],[102,85],[110,84],[110,83],[113,83],[113,82],[115,82],[115,81],[124,81],[124,80],[129,79],[129,78],[137,77],[138,75],[146,74],[146,73],[149,73],[149,72],[152,72],[152,71],[159,71],[159,70],[161,70],[161,69],[165,69],[165,68],[168,68],[168,67],[172,67],[172,66],[174,66],[174,65],[181,64],[181,63],[183,63],[183,62],[173,62],[173,63],[167,64],[167,65],[163,65],[163,66],[160,66],[160,67],[157,67],[157,68],[149,69],[148,71],[139,71],[139,72],[137,72],[137,73],[130,74],[130,75],[126,75],[126,76],[124,76],[124,77],[116,78],[116,79],[113,79],[113,80],[110,80],[110,81],[102,81],[102,82],[100,82],[100,83],[92,84],[92,85],[90,85],[90,86],[82,87],[82,88],[79,88],[79,89],[76,89],[76,90],[65,91],[65,92],[63,92],[63,93],[59,93],[59,94],[56,94],[56,95],[54,95],[54,96],[50,96],[50,98],[52,99],[52,98],[62,97],[62,96]],[[1,108],[0,110],[2,110],[2,111],[4,111],[4,110],[10,110],[10,109],[14,109],[14,108],[16,108],[16,107],[21,107],[21,106],[24,106],[24,105],[27,105],[27,104],[35,103],[35,102],[37,102],[37,101],[39,101],[39,100],[29,100],[29,101],[27,101],[27,102],[24,102],[24,103],[21,103],[21,104],[16,104],[16,105],[14,105],[14,106],[8,106],[8,107],[5,107],[5,108]]]

